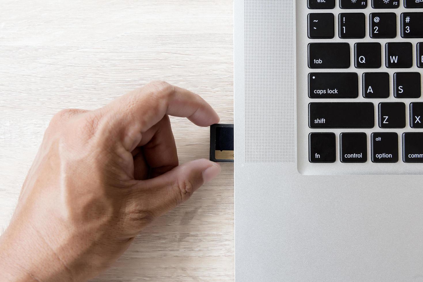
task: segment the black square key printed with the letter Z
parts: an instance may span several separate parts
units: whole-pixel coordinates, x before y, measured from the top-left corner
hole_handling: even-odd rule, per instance
[[[379,103],[380,128],[404,128],[405,104],[404,103]]]

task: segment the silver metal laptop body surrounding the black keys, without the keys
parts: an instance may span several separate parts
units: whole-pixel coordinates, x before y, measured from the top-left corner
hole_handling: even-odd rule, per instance
[[[388,12],[397,36],[370,38],[370,14]],[[371,0],[363,9],[341,9],[339,0],[332,9],[309,9],[307,0],[234,1],[236,281],[423,281],[423,164],[403,160],[403,134],[423,132],[411,127],[409,104],[423,98],[396,98],[393,81],[396,72],[422,73],[423,39],[401,37],[407,12],[423,8],[403,0],[392,9],[372,8]],[[334,15],[334,38],[308,38],[310,13]],[[340,38],[340,13],[364,13],[365,38]],[[381,44],[380,68],[354,66],[357,42]],[[411,68],[387,68],[389,42],[412,43]],[[348,43],[350,67],[309,68],[310,43]],[[357,73],[358,97],[309,98],[309,73],[319,72]],[[365,72],[389,74],[388,98],[363,97]],[[323,102],[371,102],[374,126],[310,128],[309,104]],[[381,102],[406,104],[405,128],[379,127]],[[398,134],[398,162],[372,161],[372,133],[385,132]],[[335,134],[335,162],[310,162],[310,133]],[[341,133],[365,133],[367,161],[341,162]]]

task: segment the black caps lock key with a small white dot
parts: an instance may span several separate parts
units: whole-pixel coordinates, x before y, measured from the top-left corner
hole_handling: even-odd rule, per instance
[[[310,98],[357,98],[358,75],[355,72],[312,72],[308,74]]]

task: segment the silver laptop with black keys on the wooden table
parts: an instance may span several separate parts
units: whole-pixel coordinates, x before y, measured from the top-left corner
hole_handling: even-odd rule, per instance
[[[423,0],[235,0],[236,281],[423,281]]]

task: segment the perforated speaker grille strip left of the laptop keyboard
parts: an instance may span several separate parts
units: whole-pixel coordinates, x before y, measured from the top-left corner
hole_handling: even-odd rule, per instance
[[[245,161],[294,162],[294,1],[244,1]]]

